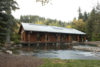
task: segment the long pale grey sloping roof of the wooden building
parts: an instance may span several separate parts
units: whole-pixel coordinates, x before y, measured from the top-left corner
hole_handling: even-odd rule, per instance
[[[25,31],[37,31],[37,32],[52,32],[52,33],[66,33],[66,34],[81,34],[85,35],[86,33],[73,28],[64,28],[56,26],[46,26],[33,23],[21,23]]]

